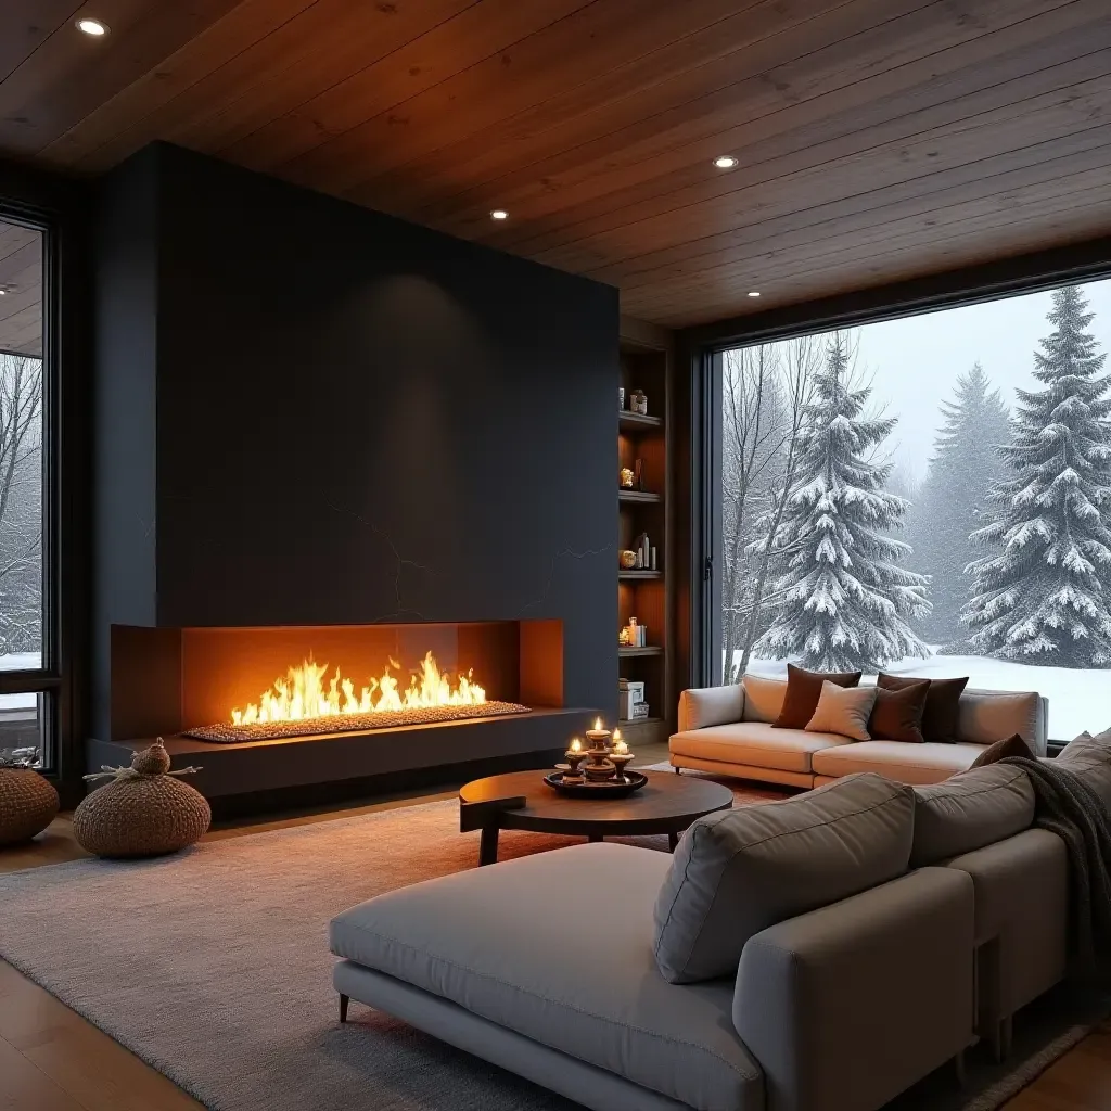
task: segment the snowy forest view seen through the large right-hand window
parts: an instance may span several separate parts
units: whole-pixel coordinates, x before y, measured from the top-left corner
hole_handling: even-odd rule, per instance
[[[1101,333],[1093,291],[1111,282],[1015,299],[1005,336],[970,307],[723,354],[727,681],[788,660],[967,674],[1041,691],[1051,735],[1109,724],[1111,312]]]

